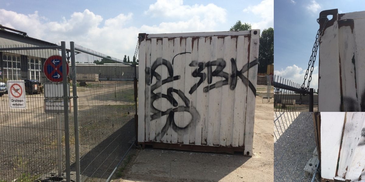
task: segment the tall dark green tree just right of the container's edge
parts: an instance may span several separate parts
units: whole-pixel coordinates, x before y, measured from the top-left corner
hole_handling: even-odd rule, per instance
[[[274,28],[264,29],[260,36],[258,73],[266,73],[267,66],[274,63]]]

